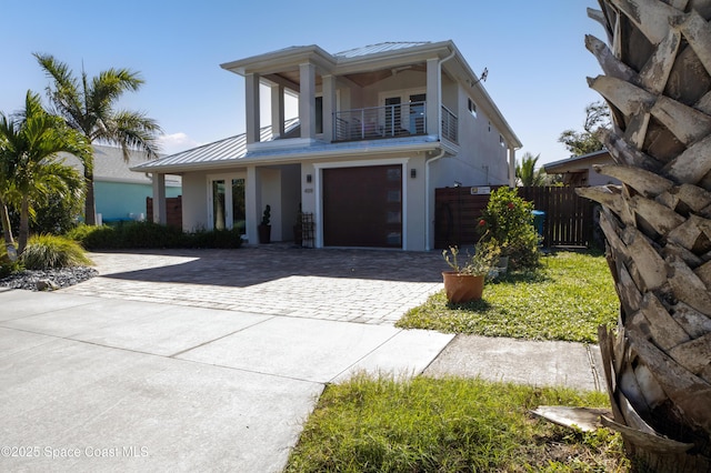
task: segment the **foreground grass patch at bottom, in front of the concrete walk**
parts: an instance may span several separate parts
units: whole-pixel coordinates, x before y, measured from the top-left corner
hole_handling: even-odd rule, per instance
[[[618,434],[534,419],[539,405],[605,406],[607,394],[482,380],[365,375],[327,386],[287,472],[625,471]]]

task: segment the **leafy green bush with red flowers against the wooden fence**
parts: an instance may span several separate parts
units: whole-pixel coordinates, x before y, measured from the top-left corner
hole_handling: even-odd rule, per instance
[[[501,248],[512,269],[533,269],[540,263],[540,236],[533,227],[533,203],[518,195],[518,189],[499,188],[491,193],[481,214],[481,242]]]

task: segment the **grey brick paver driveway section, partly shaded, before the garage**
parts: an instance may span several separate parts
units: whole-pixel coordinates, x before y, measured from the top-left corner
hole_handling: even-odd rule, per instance
[[[392,324],[439,291],[439,252],[239,250],[90,254],[100,276],[62,292],[270,315]]]

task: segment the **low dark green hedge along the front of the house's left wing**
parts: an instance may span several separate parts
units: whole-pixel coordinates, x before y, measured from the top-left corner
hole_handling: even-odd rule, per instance
[[[119,222],[113,227],[80,225],[67,236],[87,250],[130,250],[164,248],[221,248],[242,245],[238,230],[198,230],[186,233],[153,222]]]

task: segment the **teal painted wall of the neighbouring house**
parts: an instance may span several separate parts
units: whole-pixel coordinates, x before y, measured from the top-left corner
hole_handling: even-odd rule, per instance
[[[136,219],[146,214],[146,198],[153,195],[150,184],[129,184],[123,182],[94,182],[97,213],[101,213],[104,222],[129,220],[133,213]],[[180,187],[167,187],[166,197],[181,194]]]

